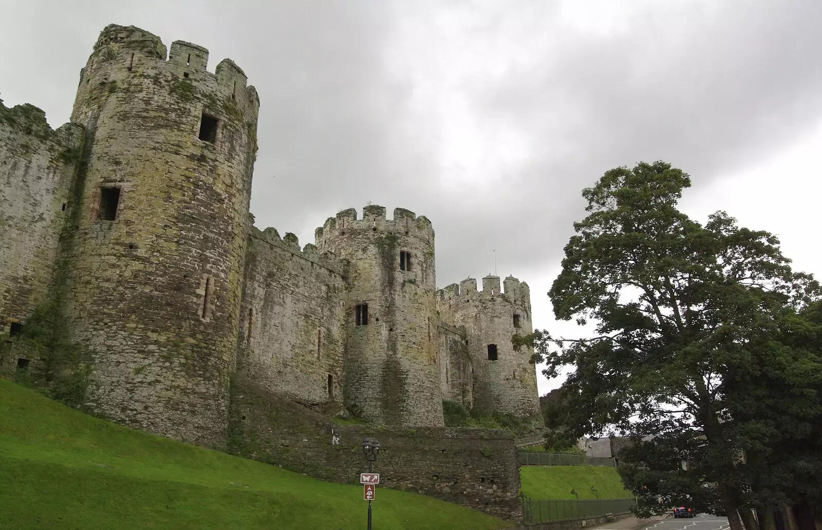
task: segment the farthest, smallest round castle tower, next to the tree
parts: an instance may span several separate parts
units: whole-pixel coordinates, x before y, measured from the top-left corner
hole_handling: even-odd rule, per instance
[[[531,349],[514,351],[511,337],[530,334],[531,292],[528,283],[509,276],[500,289],[500,277],[452,283],[437,292],[441,314],[455,325],[465,326],[473,364],[473,407],[485,413],[501,412],[533,417],[541,423],[537,370]]]

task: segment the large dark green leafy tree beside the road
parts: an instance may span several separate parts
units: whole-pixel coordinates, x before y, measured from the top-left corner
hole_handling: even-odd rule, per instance
[[[575,223],[548,295],[557,319],[590,321],[597,336],[537,330],[514,343],[533,347],[549,377],[573,366],[564,385],[573,414],[557,432],[635,437],[622,471],[640,511],[661,511],[659,496],[690,497],[698,509],[727,514],[732,528],[742,518],[754,530],[745,508],[765,496],[768,505],[786,499],[751,491],[765,474],[747,454],[769,462],[780,440],[773,411],[746,408],[750,392],[771,395],[766,380],[787,385],[773,399],[806,388],[788,372],[804,362],[814,373],[818,348],[788,337],[820,286],[792,271],[774,235],[741,228],[724,212],[704,225],[689,219],[677,209],[687,187],[686,173],[656,162],[612,169],[584,189],[589,214]],[[816,397],[802,395],[792,440],[813,416]]]

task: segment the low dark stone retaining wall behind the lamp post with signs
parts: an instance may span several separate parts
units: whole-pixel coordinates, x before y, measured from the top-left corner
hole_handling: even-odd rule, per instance
[[[332,438],[339,436],[339,444]],[[341,426],[297,403],[233,380],[229,452],[332,482],[359,483],[360,444],[381,449],[378,488],[415,491],[521,520],[520,468],[508,431],[444,427]],[[379,491],[377,491],[377,502]]]

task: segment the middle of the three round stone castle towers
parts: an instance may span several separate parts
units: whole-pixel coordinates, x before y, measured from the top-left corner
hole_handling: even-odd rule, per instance
[[[346,405],[379,424],[442,426],[431,222],[366,206],[363,219],[343,210],[315,237],[349,260]]]

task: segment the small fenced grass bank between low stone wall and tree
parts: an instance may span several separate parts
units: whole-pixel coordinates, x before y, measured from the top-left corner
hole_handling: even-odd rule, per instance
[[[522,492],[532,499],[630,499],[634,495],[622,486],[615,468],[603,466],[521,466]]]

